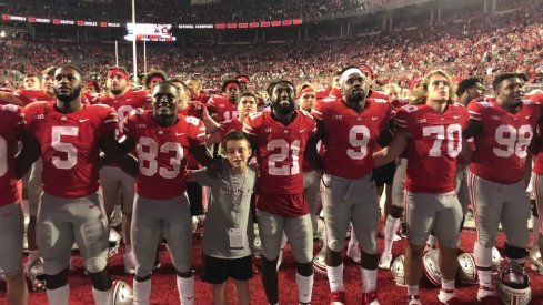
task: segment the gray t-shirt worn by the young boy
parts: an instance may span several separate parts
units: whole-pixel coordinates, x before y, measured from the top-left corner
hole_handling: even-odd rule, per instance
[[[203,253],[219,258],[251,255],[247,233],[257,173],[248,167],[244,175],[232,175],[231,167],[227,165],[219,179],[209,176],[205,170],[194,172],[194,177],[200,185],[211,187],[203,227]],[[230,228],[241,230],[243,248],[230,248]]]

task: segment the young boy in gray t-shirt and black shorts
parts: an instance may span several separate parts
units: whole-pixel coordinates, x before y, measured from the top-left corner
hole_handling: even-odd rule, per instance
[[[202,238],[203,281],[213,284],[213,304],[228,304],[227,281],[231,277],[239,304],[244,305],[250,301],[248,279],[253,276],[248,224],[252,225],[257,173],[248,166],[252,151],[243,132],[230,132],[224,148],[228,164],[220,177],[211,177],[205,170],[193,173],[200,185],[211,187]]]

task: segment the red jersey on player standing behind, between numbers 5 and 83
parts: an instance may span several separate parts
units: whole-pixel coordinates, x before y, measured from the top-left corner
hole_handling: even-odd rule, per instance
[[[97,104],[105,104],[112,106],[117,111],[117,114],[119,115],[119,129],[117,134],[118,140],[122,138],[122,131],[124,130],[123,128],[124,119],[128,116],[128,114],[132,110],[137,108],[144,108],[147,104],[151,102],[152,102],[151,94],[149,94],[144,90],[141,91],[129,90],[121,96],[104,94],[93,101],[93,103]]]

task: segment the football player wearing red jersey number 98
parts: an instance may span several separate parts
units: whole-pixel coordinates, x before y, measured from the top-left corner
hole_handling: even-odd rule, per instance
[[[537,138],[534,134],[541,128],[541,115],[539,104],[523,100],[523,84],[517,73],[499,74],[492,82],[495,101],[467,106],[470,125],[464,136],[473,138],[475,145],[469,183],[477,230],[473,252],[477,298],[483,304],[497,304],[491,266],[500,223],[506,236],[507,260],[523,266],[527,256],[530,202],[524,173],[527,148]]]

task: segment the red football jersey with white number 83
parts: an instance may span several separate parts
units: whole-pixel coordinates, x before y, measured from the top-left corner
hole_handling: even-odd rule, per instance
[[[135,192],[148,199],[168,200],[185,192],[189,149],[205,144],[205,126],[193,116],[178,114],[177,124],[162,128],[152,110],[137,109],[124,124],[124,134],[138,144]]]

